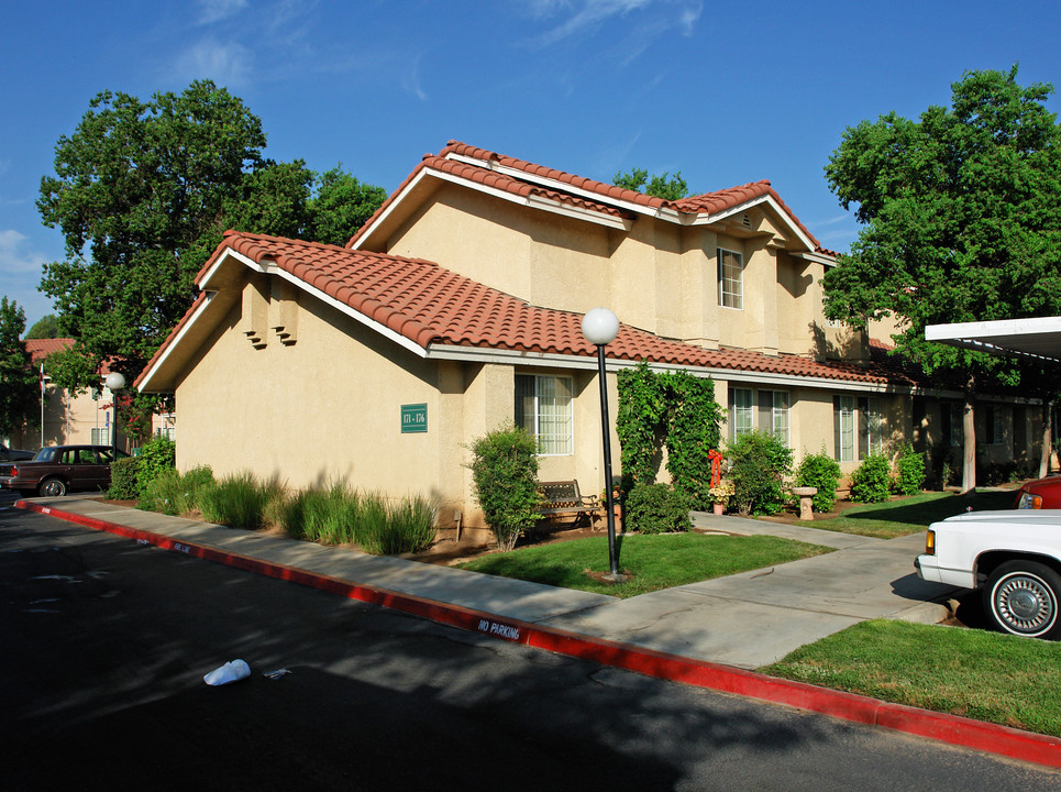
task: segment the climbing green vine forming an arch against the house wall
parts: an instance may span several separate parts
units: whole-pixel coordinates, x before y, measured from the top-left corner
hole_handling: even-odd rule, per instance
[[[651,483],[665,446],[674,486],[695,506],[706,507],[711,485],[708,452],[721,439],[722,411],[715,402],[715,383],[688,372],[653,374],[642,361],[619,372],[618,387],[616,428],[625,486]]]

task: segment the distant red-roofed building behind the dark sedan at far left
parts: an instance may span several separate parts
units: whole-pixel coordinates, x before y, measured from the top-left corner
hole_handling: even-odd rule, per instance
[[[102,380],[110,373],[104,364],[100,369],[98,387],[88,388],[80,394],[71,394],[52,383],[48,376],[47,359],[53,352],[68,350],[74,345],[74,339],[26,339],[26,350],[33,361],[33,367],[41,373],[41,394],[43,410],[37,417],[38,426],[26,427],[11,437],[16,448],[35,451],[47,446],[65,443],[100,443],[109,446],[113,442],[113,394]],[[174,417],[157,415],[153,420],[155,433],[166,433],[174,437]],[[128,448],[129,440],[119,420],[119,443]]]

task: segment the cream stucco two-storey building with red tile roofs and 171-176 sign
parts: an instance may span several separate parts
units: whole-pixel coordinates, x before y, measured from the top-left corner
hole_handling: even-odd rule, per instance
[[[176,393],[181,470],[345,476],[429,494],[443,522],[474,513],[466,444],[506,420],[541,439],[543,480],[603,486],[579,329],[597,306],[622,322],[609,371],[710,376],[725,437],[773,431],[844,472],[907,439],[953,440],[940,397],[958,392],[926,391],[825,318],[833,264],[767,182],[666,201],[451,142],[346,248],[229,232],[136,385]],[[985,413],[1001,457],[1032,453],[1036,410]]]

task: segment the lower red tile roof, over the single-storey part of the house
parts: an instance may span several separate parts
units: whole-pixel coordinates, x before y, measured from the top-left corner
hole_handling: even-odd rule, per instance
[[[229,231],[200,277],[226,248],[256,263],[275,262],[305,284],[424,350],[441,344],[583,358],[596,355],[596,348],[582,334],[582,314],[529,305],[432,262]],[[200,296],[145,372],[173,343],[201,302]],[[607,356],[866,384],[911,382],[882,364],[820,363],[791,354],[772,356],[743,350],[708,350],[627,324],[620,327],[618,338],[608,345]]]

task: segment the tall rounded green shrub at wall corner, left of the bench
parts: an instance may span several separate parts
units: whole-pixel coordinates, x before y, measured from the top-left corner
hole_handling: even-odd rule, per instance
[[[538,443],[521,427],[502,426],[473,441],[468,469],[475,499],[500,550],[541,518],[538,493]]]

